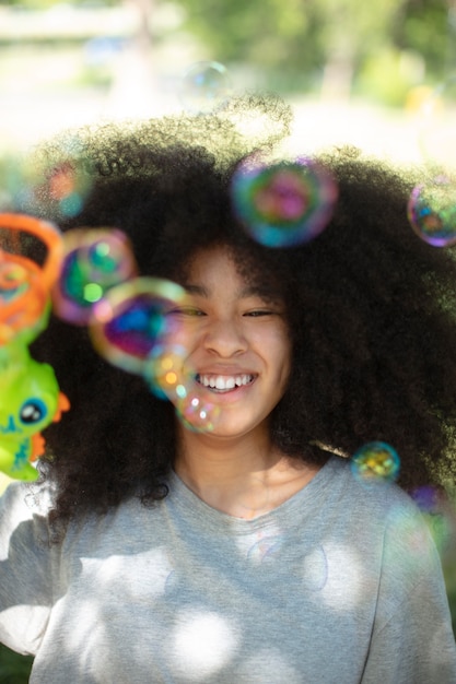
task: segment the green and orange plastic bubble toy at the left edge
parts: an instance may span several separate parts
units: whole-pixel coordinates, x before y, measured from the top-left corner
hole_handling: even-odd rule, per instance
[[[32,463],[45,450],[42,431],[70,408],[54,369],[28,351],[48,322],[62,239],[52,224],[23,214],[0,214],[0,228],[31,234],[47,248],[40,267],[0,247],[0,470],[33,481],[38,471]]]

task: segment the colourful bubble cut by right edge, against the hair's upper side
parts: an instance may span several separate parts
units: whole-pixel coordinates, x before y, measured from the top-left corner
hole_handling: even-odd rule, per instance
[[[413,188],[407,205],[410,225],[434,247],[456,243],[456,184],[448,176]]]

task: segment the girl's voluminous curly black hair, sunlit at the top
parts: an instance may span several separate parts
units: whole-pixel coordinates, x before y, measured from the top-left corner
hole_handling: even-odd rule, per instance
[[[63,232],[124,231],[141,274],[177,282],[196,251],[227,246],[243,273],[287,306],[292,373],[271,416],[273,444],[323,463],[328,450],[350,456],[383,440],[400,456],[404,488],[454,483],[454,252],[410,227],[416,174],[352,149],[320,155],[339,198],[318,237],[293,248],[255,243],[233,212],[231,178],[247,156],[270,155],[290,121],[281,101],[250,96],[212,115],[71,131],[42,153],[48,163],[75,145],[91,194],[72,219],[52,216],[45,201],[39,211]],[[132,492],[144,504],[165,496],[173,405],[105,362],[84,328],[51,318],[33,353],[51,363],[71,401],[45,433],[45,470],[59,485],[55,516],[104,511]]]

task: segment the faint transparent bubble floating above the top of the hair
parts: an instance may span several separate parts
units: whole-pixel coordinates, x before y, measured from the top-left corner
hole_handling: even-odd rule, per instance
[[[232,92],[226,67],[215,61],[200,61],[184,74],[179,97],[186,109],[208,114],[223,106]]]

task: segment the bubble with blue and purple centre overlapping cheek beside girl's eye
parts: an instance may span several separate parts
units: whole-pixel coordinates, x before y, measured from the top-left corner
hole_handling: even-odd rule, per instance
[[[169,312],[186,300],[171,281],[137,278],[108,290],[94,304],[89,331],[95,349],[115,366],[150,377],[150,357],[178,323]]]

